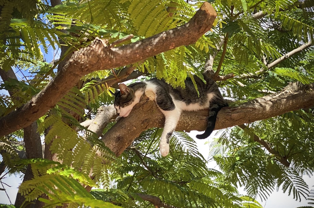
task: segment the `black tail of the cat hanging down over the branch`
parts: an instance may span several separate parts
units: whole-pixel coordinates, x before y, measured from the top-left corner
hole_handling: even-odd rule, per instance
[[[214,104],[213,106],[211,106],[207,119],[206,130],[203,134],[196,135],[196,138],[206,139],[207,137],[209,137],[209,135],[213,132],[215,128],[216,118],[219,110],[226,106],[228,106],[228,104]]]

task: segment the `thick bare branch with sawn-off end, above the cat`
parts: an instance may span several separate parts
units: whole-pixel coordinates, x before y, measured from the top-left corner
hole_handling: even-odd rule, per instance
[[[195,43],[211,29],[216,16],[214,8],[205,2],[188,23],[136,43],[111,48],[107,40],[96,38],[88,47],[73,53],[40,93],[0,119],[0,136],[26,127],[43,116],[86,74],[137,63],[173,48]]]

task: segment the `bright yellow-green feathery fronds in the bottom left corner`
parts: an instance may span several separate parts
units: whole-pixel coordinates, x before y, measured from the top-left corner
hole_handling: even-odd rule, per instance
[[[69,203],[70,207],[89,206],[89,207],[117,207],[111,203],[96,200],[83,185],[96,186],[89,178],[88,174],[76,171],[66,165],[60,165],[51,161],[29,161],[35,178],[25,181],[20,187],[19,192],[25,196],[26,201],[31,201],[41,196],[43,193],[49,196],[49,200],[40,200],[47,204],[46,207],[54,207]],[[36,170],[41,174],[36,174]],[[46,173],[42,172],[46,170]]]

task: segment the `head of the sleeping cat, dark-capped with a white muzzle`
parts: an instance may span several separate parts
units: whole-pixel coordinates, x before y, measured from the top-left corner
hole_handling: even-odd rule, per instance
[[[115,93],[115,108],[118,116],[127,117],[131,110],[133,109],[134,104],[134,90],[131,87],[121,83],[119,84],[120,91]]]

